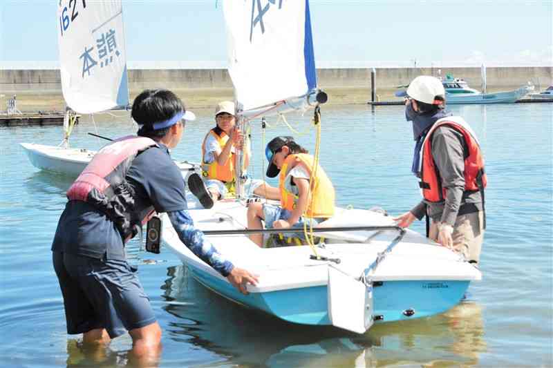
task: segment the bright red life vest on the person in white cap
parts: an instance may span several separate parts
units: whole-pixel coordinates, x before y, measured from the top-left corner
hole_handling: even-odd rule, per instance
[[[447,196],[447,190],[442,188],[440,173],[432,157],[432,135],[439,126],[450,126],[461,133],[465,139],[468,149],[468,152],[465,152],[465,191],[483,190],[486,187],[487,178],[484,173],[484,158],[476,134],[462,117],[444,117],[435,122],[429,130],[420,150],[422,167],[419,185],[424,199],[429,202],[441,202]]]

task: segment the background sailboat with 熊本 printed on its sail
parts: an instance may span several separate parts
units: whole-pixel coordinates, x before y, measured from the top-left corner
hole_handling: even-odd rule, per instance
[[[69,147],[75,113],[129,106],[121,0],[58,1],[57,39],[62,92],[68,106],[64,139],[59,146],[20,144],[33,166],[77,177],[96,151]],[[187,172],[198,168],[187,162],[177,164]]]

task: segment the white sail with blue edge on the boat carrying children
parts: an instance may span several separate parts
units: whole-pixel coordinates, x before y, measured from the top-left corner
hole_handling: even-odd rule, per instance
[[[225,0],[229,74],[250,110],[316,88],[308,0]]]

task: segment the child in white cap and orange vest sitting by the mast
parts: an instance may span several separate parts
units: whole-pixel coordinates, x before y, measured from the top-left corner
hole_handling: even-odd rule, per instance
[[[203,179],[192,174],[188,177],[188,187],[204,208],[209,209],[214,202],[227,194],[234,194],[236,152],[244,150],[244,169],[250,164],[250,149],[244,142],[244,135],[236,126],[234,102],[222,101],[215,107],[216,126],[205,136],[202,144]],[[247,179],[245,194],[265,196],[277,200],[279,190],[261,180]]]

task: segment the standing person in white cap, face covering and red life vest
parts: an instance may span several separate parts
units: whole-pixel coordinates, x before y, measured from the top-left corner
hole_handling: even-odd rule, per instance
[[[408,227],[426,214],[432,219],[429,238],[478,263],[487,182],[478,138],[462,117],[444,110],[445,90],[439,79],[416,77],[405,96],[405,115],[416,142],[411,171],[420,178],[423,199],[395,220]]]

